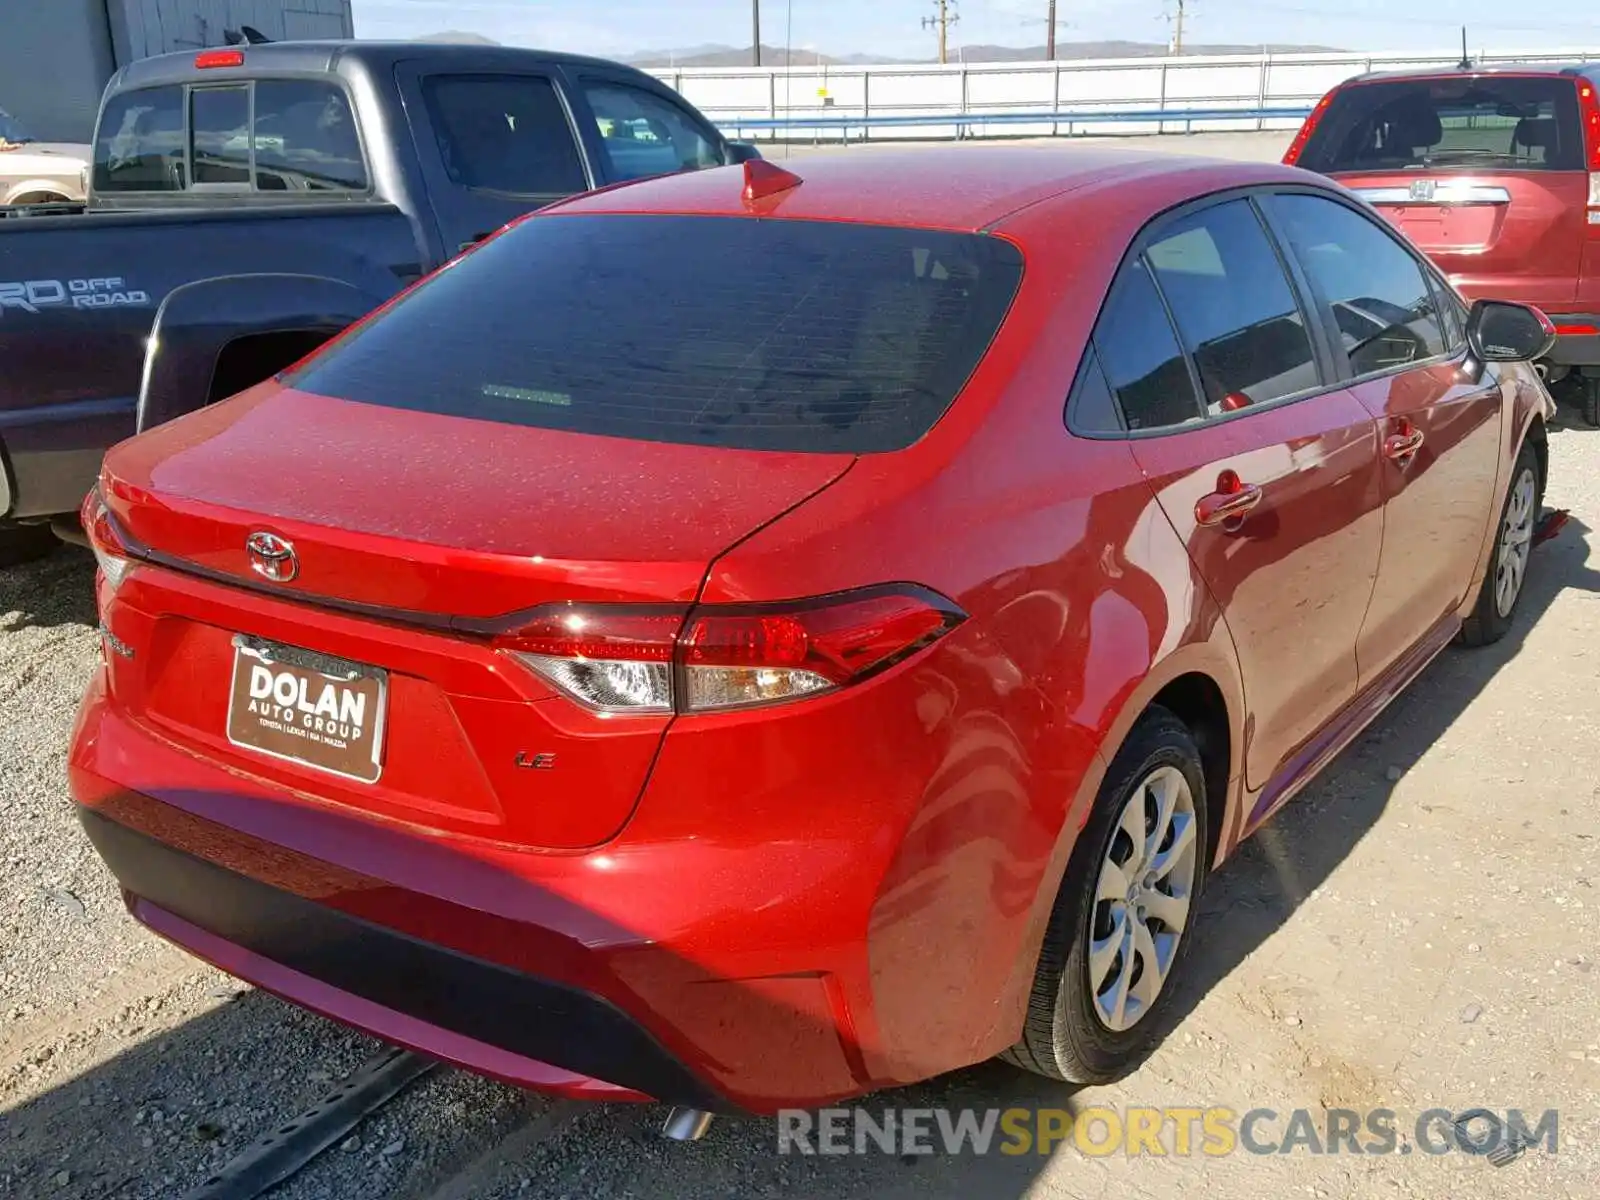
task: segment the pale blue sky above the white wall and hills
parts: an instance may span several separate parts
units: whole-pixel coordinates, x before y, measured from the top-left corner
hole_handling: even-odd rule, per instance
[[[630,54],[707,42],[749,45],[750,0],[354,0],[360,37],[408,37],[445,29],[486,34],[510,45],[592,54]],[[792,45],[826,53],[931,56],[934,38],[920,27],[934,0],[792,0]],[[1166,38],[1163,0],[1059,0],[1061,40]],[[784,45],[787,0],[762,0],[762,40]],[[1040,45],[1046,0],[960,0],[952,42]],[[1430,16],[1437,11],[1440,16]],[[1445,16],[1445,14],[1450,16]],[[1459,24],[1480,46],[1600,50],[1600,14],[1584,5],[1507,5],[1456,0],[1403,5],[1395,0],[1192,0],[1186,21],[1194,42],[1299,42],[1350,50],[1450,50]],[[1547,16],[1544,16],[1547,14]]]

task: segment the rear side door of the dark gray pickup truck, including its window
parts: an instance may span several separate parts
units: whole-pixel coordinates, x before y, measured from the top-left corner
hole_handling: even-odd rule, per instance
[[[400,64],[429,203],[446,253],[595,186],[554,70],[422,72]]]

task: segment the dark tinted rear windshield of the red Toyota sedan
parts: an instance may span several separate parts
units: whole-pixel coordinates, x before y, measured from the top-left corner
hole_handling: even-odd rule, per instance
[[[542,429],[899,450],[949,408],[1022,274],[1000,238],[819,221],[544,216],[288,382]]]

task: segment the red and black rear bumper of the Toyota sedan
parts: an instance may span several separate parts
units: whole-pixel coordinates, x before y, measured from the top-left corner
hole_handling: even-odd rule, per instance
[[[806,718],[851,714],[824,702]],[[874,808],[840,779],[859,829],[822,835],[818,803],[790,794],[816,797],[790,747],[739,741],[738,760],[666,754],[653,787],[675,798],[626,837],[533,851],[211,760],[133,715],[102,667],[69,781],[139,922],[286,1000],[518,1086],[774,1112],[1010,1045],[1043,862],[992,861],[1005,819],[990,794],[974,794],[982,824],[963,851],[963,805],[906,832],[885,824],[883,795]],[[995,773],[979,750],[947,770],[952,787]]]

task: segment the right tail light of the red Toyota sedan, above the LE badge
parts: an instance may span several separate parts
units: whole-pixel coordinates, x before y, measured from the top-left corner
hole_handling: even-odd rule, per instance
[[[859,683],[965,619],[922,587],[874,587],[781,605],[546,608],[496,640],[541,678],[602,712],[712,712]]]

